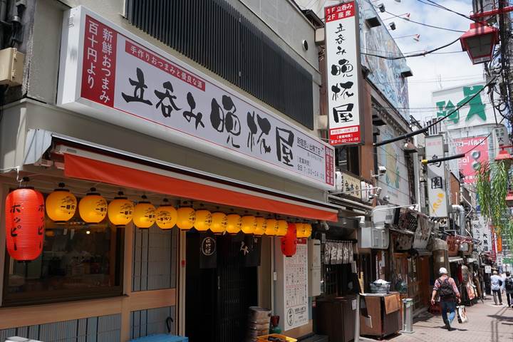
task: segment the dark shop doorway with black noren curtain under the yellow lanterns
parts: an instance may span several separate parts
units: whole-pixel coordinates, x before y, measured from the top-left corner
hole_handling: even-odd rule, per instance
[[[205,256],[208,238],[215,240],[216,250]],[[248,308],[258,304],[258,284],[257,264],[241,250],[242,242],[247,242],[243,234],[187,233],[185,333],[190,342],[244,341]]]

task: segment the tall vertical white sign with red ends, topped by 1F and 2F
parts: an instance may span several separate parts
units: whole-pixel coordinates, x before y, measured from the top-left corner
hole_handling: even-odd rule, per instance
[[[351,1],[326,7],[324,18],[329,142],[331,145],[362,143],[358,4]]]

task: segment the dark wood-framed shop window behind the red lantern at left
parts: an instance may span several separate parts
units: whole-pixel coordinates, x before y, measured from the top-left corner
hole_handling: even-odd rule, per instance
[[[6,252],[4,306],[92,299],[122,294],[124,229],[46,219],[43,252],[27,263]]]

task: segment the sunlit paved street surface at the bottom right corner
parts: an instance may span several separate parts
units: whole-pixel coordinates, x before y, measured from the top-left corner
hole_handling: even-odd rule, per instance
[[[494,306],[491,296],[484,304],[467,308],[469,323],[453,323],[454,331],[442,328],[442,316],[425,313],[415,321],[413,334],[389,338],[393,342],[509,342],[513,341],[513,309]]]

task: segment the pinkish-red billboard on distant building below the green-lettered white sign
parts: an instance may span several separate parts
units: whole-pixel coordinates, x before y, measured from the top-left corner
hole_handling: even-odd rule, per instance
[[[465,157],[458,159],[458,169],[465,175],[465,184],[474,184],[477,180],[475,172],[482,162],[488,161],[488,140],[486,137],[460,138],[455,139],[455,144],[457,153],[465,153]]]

